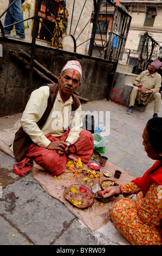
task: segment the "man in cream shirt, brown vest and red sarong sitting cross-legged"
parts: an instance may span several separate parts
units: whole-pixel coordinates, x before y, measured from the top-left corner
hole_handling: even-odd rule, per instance
[[[34,90],[14,139],[14,172],[23,175],[34,159],[52,175],[66,169],[68,155],[87,163],[93,154],[93,136],[81,129],[81,103],[73,94],[81,85],[82,68],[72,60],[58,76],[59,83]]]

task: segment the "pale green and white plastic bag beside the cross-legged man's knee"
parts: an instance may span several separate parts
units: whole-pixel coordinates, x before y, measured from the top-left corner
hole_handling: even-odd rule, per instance
[[[106,147],[106,145],[108,145],[108,139],[98,133],[93,133],[93,139],[94,139],[93,150],[99,151],[100,153],[105,153],[103,148]]]

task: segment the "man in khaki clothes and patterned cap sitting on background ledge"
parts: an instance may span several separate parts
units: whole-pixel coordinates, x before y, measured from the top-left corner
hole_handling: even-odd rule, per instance
[[[158,117],[159,108],[161,104],[161,95],[159,89],[161,87],[161,76],[157,73],[162,63],[155,59],[147,70],[142,71],[141,74],[133,82],[133,89],[129,99],[129,108],[127,114],[132,114],[135,100],[139,104],[146,105],[148,102],[154,100],[154,114],[153,117]]]

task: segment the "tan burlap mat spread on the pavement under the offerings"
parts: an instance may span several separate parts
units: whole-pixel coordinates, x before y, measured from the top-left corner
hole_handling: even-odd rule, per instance
[[[87,165],[84,166],[87,168]],[[114,172],[118,169],[122,172],[120,179],[114,178]],[[112,173],[110,178],[106,178],[103,175],[103,170],[109,170]],[[100,178],[96,179],[88,179],[89,182],[85,182],[83,179],[85,178],[85,174],[74,174],[73,171],[66,169],[64,173],[59,176],[52,176],[50,173],[44,171],[43,168],[38,166],[37,164],[33,165],[33,177],[35,180],[39,182],[39,184],[46,190],[51,196],[56,199],[59,199],[64,205],[69,209],[69,211],[73,212],[73,214],[82,220],[90,230],[94,231],[101,228],[103,225],[109,222],[109,209],[118,202],[122,195],[118,197],[113,197],[108,203],[102,203],[98,200],[94,200],[94,203],[90,205],[88,208],[79,209],[74,206],[72,203],[68,202],[68,200],[64,197],[64,189],[61,189],[62,186],[68,187],[74,184],[81,184],[88,187],[91,190],[91,187],[94,184],[100,184],[102,180],[111,179],[118,184],[124,184],[133,179],[137,178],[131,173],[128,173],[126,170],[116,167],[114,164],[107,162],[106,166],[100,169]]]

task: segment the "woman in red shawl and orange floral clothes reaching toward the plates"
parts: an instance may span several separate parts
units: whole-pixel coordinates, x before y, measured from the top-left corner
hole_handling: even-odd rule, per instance
[[[162,245],[162,118],[148,120],[142,137],[147,156],[157,161],[141,178],[107,187],[99,196],[137,194],[135,202],[123,198],[113,206],[114,226],[132,245]]]

